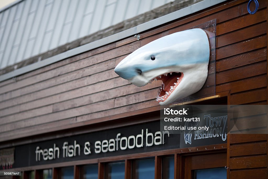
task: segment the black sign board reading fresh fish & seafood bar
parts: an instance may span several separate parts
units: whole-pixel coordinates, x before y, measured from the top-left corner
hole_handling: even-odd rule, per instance
[[[160,121],[17,146],[13,168],[180,148]]]

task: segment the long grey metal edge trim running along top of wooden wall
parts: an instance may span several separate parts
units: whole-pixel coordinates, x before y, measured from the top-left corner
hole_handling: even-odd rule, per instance
[[[98,48],[100,46],[118,41],[120,39],[124,39],[126,37],[131,36],[131,35],[138,34],[140,32],[146,31],[148,29],[157,27],[158,25],[168,23],[172,20],[175,20],[175,19],[187,16],[189,14],[198,12],[199,10],[209,8],[211,6],[214,6],[214,5],[221,3],[221,2],[224,2],[224,1],[226,1],[226,0],[204,0],[204,1],[198,2],[196,4],[193,4],[193,5],[188,6],[186,8],[177,10],[177,11],[172,12],[170,14],[167,14],[165,16],[158,17],[157,19],[154,19],[154,20],[148,21],[146,23],[137,25],[136,27],[129,28],[127,30],[118,32],[116,34],[107,36],[105,38],[96,40],[94,42],[87,43],[85,45],[76,47],[74,49],[70,49],[66,52],[57,54],[57,55],[49,57],[47,59],[38,61],[36,63],[30,64],[30,65],[27,65],[25,67],[21,67],[17,70],[3,74],[0,76],[0,82],[5,81],[5,80],[10,79],[10,78],[13,78],[13,77],[18,76],[18,75],[22,75],[24,73],[27,73],[27,72],[30,72],[33,70],[36,70],[38,68],[42,68],[44,66],[50,65],[50,64],[55,63],[57,61],[66,59],[68,57],[75,56],[77,54],[86,52],[88,50]]]

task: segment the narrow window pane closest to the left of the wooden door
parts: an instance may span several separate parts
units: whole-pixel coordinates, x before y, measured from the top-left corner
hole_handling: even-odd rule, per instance
[[[174,155],[162,158],[162,178],[174,178]]]

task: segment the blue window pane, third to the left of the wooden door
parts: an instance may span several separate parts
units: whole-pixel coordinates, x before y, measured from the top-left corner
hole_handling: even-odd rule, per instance
[[[124,179],[125,162],[107,163],[105,165],[105,179]]]

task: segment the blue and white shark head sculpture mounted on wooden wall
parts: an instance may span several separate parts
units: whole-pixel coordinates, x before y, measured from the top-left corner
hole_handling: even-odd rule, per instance
[[[202,88],[207,79],[209,57],[208,36],[196,28],[142,46],[125,57],[114,71],[139,87],[162,80],[156,101],[166,105]]]

